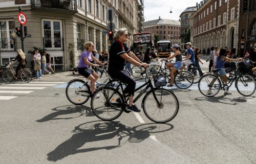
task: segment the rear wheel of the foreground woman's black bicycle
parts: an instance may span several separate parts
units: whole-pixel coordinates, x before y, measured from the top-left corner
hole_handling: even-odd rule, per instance
[[[108,101],[109,99],[110,101]],[[91,100],[93,113],[97,118],[104,121],[117,119],[123,111],[122,104],[124,104],[124,100],[121,93],[112,87],[97,89]]]

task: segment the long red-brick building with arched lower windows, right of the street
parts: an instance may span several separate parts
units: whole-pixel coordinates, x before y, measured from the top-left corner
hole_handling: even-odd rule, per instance
[[[200,49],[238,48],[240,1],[204,0],[196,6],[190,17],[192,44]]]

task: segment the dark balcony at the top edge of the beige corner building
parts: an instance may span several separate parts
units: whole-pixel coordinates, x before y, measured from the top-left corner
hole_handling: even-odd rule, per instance
[[[31,8],[41,7],[77,12],[76,0],[31,0]]]

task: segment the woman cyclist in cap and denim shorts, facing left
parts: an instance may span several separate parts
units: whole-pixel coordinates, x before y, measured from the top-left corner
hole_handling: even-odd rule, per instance
[[[174,44],[172,46],[172,51],[174,51],[174,55],[169,56],[168,58],[164,59],[164,61],[166,61],[169,59],[173,59],[174,57],[176,58],[175,63],[167,63],[166,64],[166,67],[170,71],[170,83],[168,83],[167,86],[174,86],[174,73],[182,67],[182,55],[179,50],[180,50],[179,45]]]

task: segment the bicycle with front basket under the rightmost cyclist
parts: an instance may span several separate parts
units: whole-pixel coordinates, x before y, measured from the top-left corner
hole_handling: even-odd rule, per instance
[[[251,96],[255,92],[256,84],[252,76],[246,74],[249,64],[241,65],[242,62],[237,62],[237,67],[234,71],[233,77],[227,84],[224,84],[218,73],[219,69],[215,70],[214,73],[206,74],[201,77],[198,83],[200,92],[207,97],[213,97],[218,94],[220,90],[227,91],[229,87],[235,81],[235,87],[238,92],[243,96]],[[207,90],[211,88],[211,94],[207,93]]]

